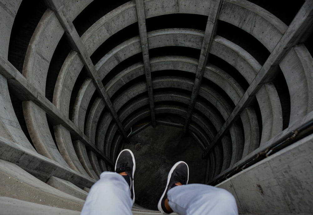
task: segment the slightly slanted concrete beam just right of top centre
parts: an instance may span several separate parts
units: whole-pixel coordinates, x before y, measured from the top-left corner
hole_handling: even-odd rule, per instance
[[[187,111],[185,126],[183,129],[184,133],[187,132],[187,129],[189,127],[191,115],[195,107],[197,96],[200,90],[203,72],[205,70],[205,66],[207,65],[210,46],[213,40],[213,36],[215,34],[216,21],[218,17],[218,12],[221,8],[221,2],[222,2],[221,0],[210,1],[208,5],[208,7],[211,9],[210,9],[210,13],[208,14],[207,26],[204,32],[203,43],[202,43],[199,63],[198,63],[197,72],[196,72],[196,78],[195,78],[193,89],[192,89],[192,94],[191,94],[190,104],[189,104],[188,111]]]

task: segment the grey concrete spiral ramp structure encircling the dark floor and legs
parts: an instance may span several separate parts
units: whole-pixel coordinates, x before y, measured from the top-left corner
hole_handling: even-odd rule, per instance
[[[192,135],[215,181],[313,120],[312,22],[311,0],[1,0],[2,204],[80,210],[54,183],[86,195],[131,128],[158,124]],[[241,212],[312,213],[312,138],[219,186]]]

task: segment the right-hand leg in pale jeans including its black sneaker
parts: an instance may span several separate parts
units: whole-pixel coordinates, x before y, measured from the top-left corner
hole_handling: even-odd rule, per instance
[[[180,215],[238,215],[235,198],[230,192],[204,184],[187,185],[188,179],[189,168],[185,162],[173,165],[158,202],[159,211],[174,211]]]

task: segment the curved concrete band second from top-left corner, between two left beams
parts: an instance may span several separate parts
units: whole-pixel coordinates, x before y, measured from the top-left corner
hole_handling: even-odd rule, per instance
[[[29,42],[23,75],[43,95],[46,91],[50,60],[64,29],[50,9],[44,13]]]

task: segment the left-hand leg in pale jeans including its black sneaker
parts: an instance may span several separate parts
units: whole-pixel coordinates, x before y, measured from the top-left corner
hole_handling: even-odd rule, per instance
[[[131,150],[120,152],[115,163],[115,172],[103,172],[90,189],[81,215],[87,214],[132,214],[135,201],[135,158]]]

